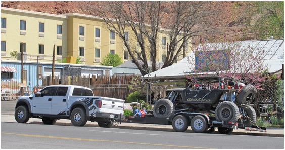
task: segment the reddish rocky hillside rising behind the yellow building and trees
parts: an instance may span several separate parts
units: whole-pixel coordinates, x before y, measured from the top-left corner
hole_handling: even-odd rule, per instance
[[[15,1],[15,2],[1,2],[2,7],[29,10],[35,12],[43,12],[50,14],[65,14],[65,13],[83,13],[79,7],[80,1]],[[234,9],[234,6],[239,5],[239,9]],[[243,40],[250,40],[251,37],[245,33],[245,27],[239,21],[240,15],[245,10],[243,2],[221,2],[218,6],[221,10],[219,17],[216,20],[216,26],[219,27],[219,32],[228,34],[236,38],[243,38]],[[239,20],[239,21],[236,21]]]

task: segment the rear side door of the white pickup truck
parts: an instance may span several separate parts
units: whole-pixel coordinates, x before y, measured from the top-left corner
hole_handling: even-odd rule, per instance
[[[58,90],[52,99],[52,115],[66,115],[67,91],[68,87],[58,87]]]

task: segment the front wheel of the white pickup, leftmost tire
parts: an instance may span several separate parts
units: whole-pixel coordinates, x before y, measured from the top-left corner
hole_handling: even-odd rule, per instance
[[[29,110],[26,106],[19,106],[15,110],[14,114],[15,120],[18,123],[26,123],[29,121]]]

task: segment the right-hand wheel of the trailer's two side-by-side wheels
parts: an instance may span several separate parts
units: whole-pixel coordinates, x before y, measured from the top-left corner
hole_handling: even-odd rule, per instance
[[[205,118],[200,115],[193,117],[190,125],[195,133],[204,133],[208,127]]]

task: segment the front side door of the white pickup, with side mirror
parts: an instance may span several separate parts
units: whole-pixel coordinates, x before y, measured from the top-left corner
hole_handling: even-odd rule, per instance
[[[51,114],[52,99],[58,87],[47,87],[40,91],[39,97],[33,97],[32,113]]]

